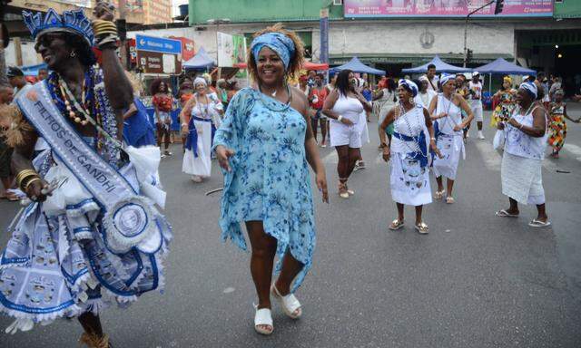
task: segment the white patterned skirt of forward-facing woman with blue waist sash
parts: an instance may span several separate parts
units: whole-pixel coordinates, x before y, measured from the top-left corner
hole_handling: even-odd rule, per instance
[[[421,168],[419,161],[408,160],[404,153],[391,154],[391,198],[409,206],[423,206],[432,202],[428,166]]]

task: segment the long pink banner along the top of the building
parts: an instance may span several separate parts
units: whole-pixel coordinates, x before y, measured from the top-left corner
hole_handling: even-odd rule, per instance
[[[346,17],[466,16],[490,0],[343,0]],[[468,5],[469,4],[469,5]],[[495,4],[477,14],[491,16]],[[502,16],[552,16],[553,0],[505,0]]]

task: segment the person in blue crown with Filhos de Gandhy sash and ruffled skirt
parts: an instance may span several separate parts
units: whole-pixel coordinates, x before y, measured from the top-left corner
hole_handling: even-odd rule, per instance
[[[159,149],[121,143],[133,92],[115,52],[111,6],[97,2],[94,15],[23,13],[52,73],[15,99],[6,131],[16,183],[30,203],[0,252],[0,312],[15,318],[12,333],[78,317],[80,342],[105,348],[99,315],[162,289],[171,232],[153,207],[164,205]]]

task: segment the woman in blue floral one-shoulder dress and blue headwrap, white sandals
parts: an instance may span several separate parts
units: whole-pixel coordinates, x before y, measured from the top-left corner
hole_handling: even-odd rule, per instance
[[[291,88],[303,44],[279,25],[255,35],[248,66],[257,84],[231,100],[213,150],[224,169],[222,237],[246,249],[240,223],[251,242],[251,274],[259,298],[258,333],[270,334],[271,295],[293,319],[302,314],[293,295],[311,266],[315,225],[308,164],[328,201],[325,169],[308,120],[309,102]],[[271,284],[274,256],[279,278]]]

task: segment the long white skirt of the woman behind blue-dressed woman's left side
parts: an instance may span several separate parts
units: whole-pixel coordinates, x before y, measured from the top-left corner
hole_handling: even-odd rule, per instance
[[[202,129],[198,133],[198,157],[194,157],[192,150],[185,150],[183,154],[182,171],[190,175],[200,177],[210,177],[212,173],[212,122],[193,121],[196,130]]]

